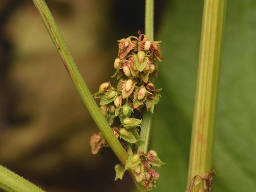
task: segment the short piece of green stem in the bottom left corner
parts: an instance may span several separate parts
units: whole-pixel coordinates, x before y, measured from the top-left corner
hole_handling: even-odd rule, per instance
[[[0,188],[15,192],[44,192],[33,183],[0,165]]]

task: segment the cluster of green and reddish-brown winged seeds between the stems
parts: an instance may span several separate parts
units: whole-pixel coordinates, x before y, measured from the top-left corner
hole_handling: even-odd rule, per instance
[[[153,150],[147,154],[139,152],[138,147],[143,142],[139,117],[145,110],[154,113],[155,104],[161,97],[161,89],[155,89],[152,78],[158,76],[162,53],[161,41],[151,41],[140,31],[138,34],[138,37],[118,40],[118,55],[114,61],[116,72],[112,76],[118,80],[117,86],[102,83],[94,98],[100,99],[100,111],[129,154],[125,165],[115,166],[115,180],[122,179],[125,170],[129,170],[137,182],[151,190],[159,179],[159,173],[152,166],[161,166],[163,162]],[[100,133],[92,135],[90,144],[93,154],[108,145]]]

